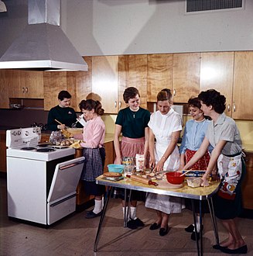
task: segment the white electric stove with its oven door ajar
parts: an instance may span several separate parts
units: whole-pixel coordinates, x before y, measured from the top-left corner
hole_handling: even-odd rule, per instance
[[[39,127],[6,131],[8,216],[50,225],[75,211],[84,157],[39,147],[40,138]]]

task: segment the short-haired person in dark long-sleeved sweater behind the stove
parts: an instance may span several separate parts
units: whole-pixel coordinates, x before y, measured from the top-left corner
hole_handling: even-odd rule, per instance
[[[64,130],[66,126],[71,127],[77,122],[77,114],[74,109],[70,108],[71,95],[67,91],[60,91],[58,94],[59,105],[50,109],[47,117],[47,130]],[[58,120],[59,124],[56,122]],[[77,123],[77,127],[82,128]]]

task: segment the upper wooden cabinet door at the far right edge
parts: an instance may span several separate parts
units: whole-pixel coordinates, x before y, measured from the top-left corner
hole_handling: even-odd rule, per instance
[[[232,116],[253,119],[253,51],[234,53],[234,90]]]

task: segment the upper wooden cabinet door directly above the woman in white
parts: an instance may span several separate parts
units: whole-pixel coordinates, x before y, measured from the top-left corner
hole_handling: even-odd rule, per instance
[[[147,101],[156,102],[156,95],[163,88],[172,89],[173,54],[148,55]]]

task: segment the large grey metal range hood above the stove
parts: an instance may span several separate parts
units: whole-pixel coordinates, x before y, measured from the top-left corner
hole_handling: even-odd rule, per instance
[[[0,58],[0,68],[87,71],[60,29],[60,0],[28,0],[28,25]]]

